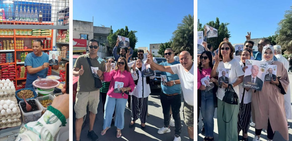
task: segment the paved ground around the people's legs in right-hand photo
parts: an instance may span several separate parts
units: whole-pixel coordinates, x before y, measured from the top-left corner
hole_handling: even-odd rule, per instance
[[[292,73],[289,73],[289,80],[290,83],[292,82]],[[290,88],[292,90],[292,85],[290,85]],[[290,93],[291,97],[292,97],[292,93]],[[292,105],[292,99],[291,99],[291,105]],[[200,114],[200,119],[202,118],[201,114]],[[292,140],[292,120],[288,120],[289,125],[291,126],[288,130],[289,132],[289,140]],[[198,141],[203,140],[203,138],[205,137],[204,135],[202,135],[202,124],[203,122],[200,120],[199,122],[199,130],[198,130],[198,135],[197,135],[197,139]],[[242,131],[239,133],[240,135],[240,139],[242,137]],[[254,127],[250,127],[248,130],[248,140],[252,141],[253,137],[255,135],[255,128]],[[261,140],[262,141],[266,141],[267,139],[267,133],[264,132],[264,130],[262,131],[261,134]],[[218,140],[218,125],[217,125],[217,108],[215,109],[215,116],[214,116],[214,140]],[[281,136],[281,134],[279,132],[276,132],[274,135],[274,139],[273,141],[284,141],[283,137]]]

